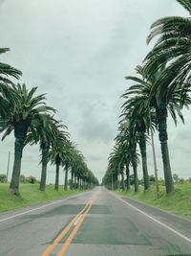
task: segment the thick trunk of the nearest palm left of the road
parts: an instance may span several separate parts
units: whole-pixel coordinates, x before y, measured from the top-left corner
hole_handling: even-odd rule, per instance
[[[14,126],[14,164],[11,176],[10,192],[12,195],[19,196],[19,178],[21,172],[21,159],[24,149],[24,142],[27,137],[29,124],[21,121]]]

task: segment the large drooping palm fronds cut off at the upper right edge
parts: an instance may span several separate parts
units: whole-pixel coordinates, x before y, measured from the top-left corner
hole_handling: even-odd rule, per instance
[[[191,13],[189,0],[177,2]],[[149,43],[159,35],[153,50],[144,59],[148,74],[154,74],[167,63],[167,67],[155,84],[161,96],[166,87],[175,90],[184,84],[190,87],[191,80],[191,19],[190,17],[169,16],[158,19],[151,26],[151,33],[147,37]]]

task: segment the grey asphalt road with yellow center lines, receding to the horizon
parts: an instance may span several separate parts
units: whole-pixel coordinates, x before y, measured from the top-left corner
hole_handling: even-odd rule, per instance
[[[191,221],[96,188],[0,214],[0,255],[191,255]]]

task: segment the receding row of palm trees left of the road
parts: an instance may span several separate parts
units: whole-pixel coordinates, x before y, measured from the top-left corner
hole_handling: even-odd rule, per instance
[[[0,54],[9,48],[1,48]],[[11,194],[19,195],[19,180],[23,149],[27,144],[39,144],[41,151],[40,190],[45,191],[47,164],[56,166],[55,190],[58,190],[59,168],[65,169],[64,189],[68,189],[68,173],[71,171],[71,187],[92,188],[98,184],[95,175],[88,169],[83,154],[70,140],[66,127],[54,118],[55,109],[46,105],[45,94],[34,96],[37,87],[29,90],[26,84],[17,84],[22,73],[0,62],[0,132],[2,140],[14,132],[14,163],[11,176]]]

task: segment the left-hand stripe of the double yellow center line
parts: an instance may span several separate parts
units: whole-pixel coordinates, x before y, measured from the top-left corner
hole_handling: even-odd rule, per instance
[[[85,207],[74,217],[74,219],[67,225],[67,227],[56,237],[56,239],[53,241],[53,244],[49,245],[49,247],[41,254],[41,256],[48,256],[53,251],[53,248],[60,242],[61,239],[64,238],[64,236],[68,233],[68,231],[73,226],[74,221],[76,221],[78,217],[85,211],[85,209],[88,207],[91,201],[94,200],[96,195],[97,193],[93,196],[93,198],[91,198],[86,203]]]

